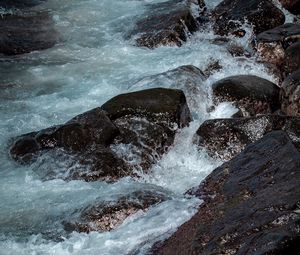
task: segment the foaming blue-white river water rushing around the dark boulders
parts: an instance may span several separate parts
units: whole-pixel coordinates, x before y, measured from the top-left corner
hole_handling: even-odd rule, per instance
[[[0,58],[1,255],[143,254],[195,213],[201,201],[184,193],[221,163],[193,145],[196,129],[205,119],[229,117],[235,109],[224,103],[208,113],[205,109],[211,102],[202,100],[192,108],[190,127],[177,134],[174,146],[149,174],[116,183],[41,181],[39,171],[51,162],[18,165],[8,155],[12,137],[63,123],[117,94],[147,88],[147,82],[138,81],[181,65],[205,69],[219,60],[223,69],[205,81],[208,92],[214,81],[229,75],[255,74],[274,81],[255,57],[233,58],[224,46],[211,44],[216,36],[209,27],[181,48],[133,46],[124,36],[152,2],[163,1],[48,0],[39,8],[53,14],[60,42],[45,51]],[[220,1],[208,2],[213,8]],[[15,10],[1,10],[7,11]],[[239,41],[244,46],[251,40],[251,28],[247,31]],[[66,162],[57,163],[60,170],[67,167]],[[159,190],[170,199],[128,218],[111,232],[60,235],[61,221],[74,210],[140,190]]]

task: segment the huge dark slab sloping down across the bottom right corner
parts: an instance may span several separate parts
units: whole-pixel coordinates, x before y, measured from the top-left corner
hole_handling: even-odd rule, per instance
[[[215,169],[197,214],[152,254],[299,254],[300,153],[281,131]]]

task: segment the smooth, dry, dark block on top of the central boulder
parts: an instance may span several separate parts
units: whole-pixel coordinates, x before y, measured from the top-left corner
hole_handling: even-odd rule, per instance
[[[181,90],[154,88],[118,95],[101,108],[111,120],[127,115],[175,123],[185,127],[191,120],[186,98]]]

